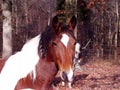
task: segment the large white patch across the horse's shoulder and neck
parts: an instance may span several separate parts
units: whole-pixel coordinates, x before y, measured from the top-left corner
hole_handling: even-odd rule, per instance
[[[0,89],[14,90],[19,79],[26,77],[30,72],[34,72],[39,61],[38,45],[40,35],[28,41],[20,52],[12,55],[5,63],[0,74]]]

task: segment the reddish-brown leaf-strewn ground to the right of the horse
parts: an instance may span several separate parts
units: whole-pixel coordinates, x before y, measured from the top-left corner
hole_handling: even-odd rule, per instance
[[[59,82],[60,90],[120,90],[119,64],[98,60],[82,65],[82,69],[81,72],[75,71],[72,89]]]

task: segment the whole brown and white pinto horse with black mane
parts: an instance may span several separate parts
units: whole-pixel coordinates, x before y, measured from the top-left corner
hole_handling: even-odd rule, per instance
[[[0,89],[56,90],[53,81],[58,71],[71,87],[76,21],[73,16],[65,25],[55,16],[44,32],[28,41],[21,51],[1,61]]]

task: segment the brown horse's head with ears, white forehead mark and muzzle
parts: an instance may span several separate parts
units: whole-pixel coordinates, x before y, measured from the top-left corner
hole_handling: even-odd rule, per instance
[[[62,80],[67,80],[69,87],[73,80],[73,59],[75,56],[76,39],[73,31],[76,25],[76,18],[73,16],[68,25],[59,22],[55,16],[52,21],[55,38],[51,41],[51,53],[57,64]]]

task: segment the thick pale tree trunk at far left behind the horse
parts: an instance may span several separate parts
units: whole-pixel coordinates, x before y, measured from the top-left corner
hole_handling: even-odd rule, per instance
[[[11,11],[12,2],[4,0],[2,3],[3,19],[3,52],[2,58],[9,57],[12,54],[12,26],[11,26]]]

